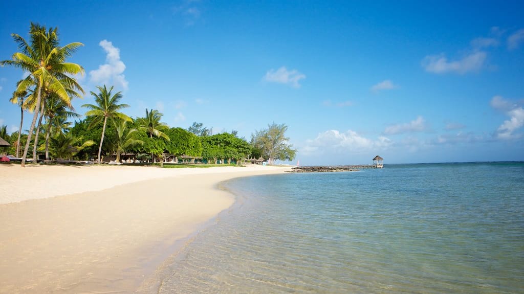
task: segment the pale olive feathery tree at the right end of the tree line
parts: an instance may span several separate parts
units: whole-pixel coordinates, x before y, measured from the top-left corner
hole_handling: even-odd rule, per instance
[[[289,138],[286,137],[288,126],[282,123],[277,125],[275,122],[268,125],[267,129],[255,131],[251,135],[251,144],[253,148],[258,149],[262,156],[269,161],[269,164],[275,160],[293,160],[297,150],[292,149],[289,144]]]

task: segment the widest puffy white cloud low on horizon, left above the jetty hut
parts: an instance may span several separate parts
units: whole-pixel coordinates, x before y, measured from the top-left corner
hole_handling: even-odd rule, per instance
[[[307,140],[306,145],[301,148],[300,152],[304,155],[347,155],[348,152],[374,152],[377,149],[386,149],[389,145],[391,145],[391,140],[386,137],[379,137],[377,140],[370,140],[352,130],[346,132],[328,130],[319,133],[313,140]]]

